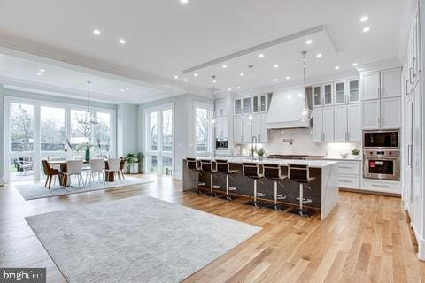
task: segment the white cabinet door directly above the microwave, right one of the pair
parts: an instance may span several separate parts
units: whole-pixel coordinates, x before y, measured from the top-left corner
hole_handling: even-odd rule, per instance
[[[381,100],[381,127],[383,129],[401,127],[401,97]]]

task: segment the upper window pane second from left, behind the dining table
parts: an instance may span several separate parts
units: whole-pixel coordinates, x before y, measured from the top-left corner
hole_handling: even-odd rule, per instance
[[[41,106],[40,137],[42,151],[65,149],[65,109]]]

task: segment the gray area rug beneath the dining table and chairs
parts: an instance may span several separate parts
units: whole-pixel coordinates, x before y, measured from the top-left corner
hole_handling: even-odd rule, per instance
[[[151,180],[143,180],[140,178],[126,177],[126,180],[120,182],[117,180],[115,182],[92,182],[86,187],[60,187],[58,184],[54,187],[53,185],[50,189],[44,187],[44,183],[34,183],[34,184],[25,184],[25,185],[15,185],[18,189],[20,195],[24,197],[26,201],[34,200],[37,198],[58,196],[58,195],[71,195],[79,194],[90,191],[97,191],[102,189],[109,189],[115,187],[125,187],[130,185],[137,184],[146,184],[151,183]],[[74,181],[74,183],[77,183]]]

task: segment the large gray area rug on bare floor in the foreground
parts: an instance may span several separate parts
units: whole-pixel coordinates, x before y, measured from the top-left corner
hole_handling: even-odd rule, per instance
[[[69,282],[181,282],[261,228],[149,196],[27,217]]]

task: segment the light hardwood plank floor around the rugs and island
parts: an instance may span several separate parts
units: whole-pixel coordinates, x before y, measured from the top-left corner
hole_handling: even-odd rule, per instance
[[[144,178],[144,177],[143,177]],[[0,187],[0,266],[46,267],[48,282],[66,282],[24,217],[151,195],[263,229],[185,282],[421,282],[407,216],[396,197],[341,192],[339,205],[321,221],[254,209],[245,199],[228,203],[182,193],[182,182],[154,183],[24,201],[12,186]]]

